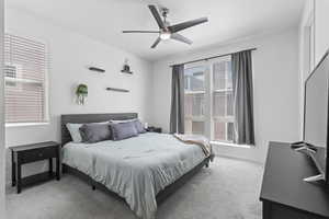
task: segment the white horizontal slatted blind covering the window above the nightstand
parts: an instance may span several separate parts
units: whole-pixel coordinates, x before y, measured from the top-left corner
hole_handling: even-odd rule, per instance
[[[46,120],[46,45],[4,35],[5,123]]]

